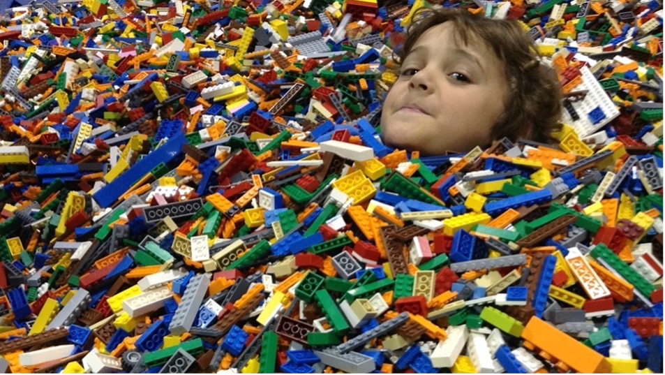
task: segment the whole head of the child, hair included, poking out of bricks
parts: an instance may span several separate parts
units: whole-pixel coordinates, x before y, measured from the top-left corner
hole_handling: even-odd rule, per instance
[[[548,142],[560,127],[560,84],[514,21],[424,9],[396,61],[381,115],[387,145],[465,152],[503,137]]]

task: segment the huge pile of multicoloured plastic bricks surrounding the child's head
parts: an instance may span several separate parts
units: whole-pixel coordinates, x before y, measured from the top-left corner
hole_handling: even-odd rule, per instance
[[[0,18],[0,372],[662,372],[662,8],[521,20],[558,145],[380,141],[421,0]]]

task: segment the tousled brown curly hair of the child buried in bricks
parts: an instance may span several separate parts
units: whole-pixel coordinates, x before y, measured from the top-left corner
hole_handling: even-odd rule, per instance
[[[410,54],[420,36],[431,27],[453,22],[460,40],[485,43],[505,62],[509,83],[505,112],[491,129],[491,139],[525,138],[558,143],[552,137],[561,130],[562,91],[555,71],[539,61],[534,41],[514,20],[492,20],[467,10],[420,8],[406,30],[403,47],[394,57],[397,64]]]

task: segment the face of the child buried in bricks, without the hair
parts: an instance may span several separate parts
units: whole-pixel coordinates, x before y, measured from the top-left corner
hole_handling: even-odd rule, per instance
[[[424,154],[485,145],[505,110],[503,72],[503,62],[484,43],[458,41],[451,22],[431,27],[404,59],[387,94],[384,142]]]

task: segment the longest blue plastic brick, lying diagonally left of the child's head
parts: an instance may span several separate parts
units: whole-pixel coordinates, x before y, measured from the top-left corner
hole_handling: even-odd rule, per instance
[[[96,191],[96,193],[93,194],[93,198],[97,201],[100,207],[109,207],[122,194],[126,193],[137,179],[140,179],[149,173],[153,168],[158,166],[158,164],[170,163],[170,161],[175,159],[176,156],[181,154],[182,147],[186,142],[187,140],[182,134],[171,138],[158,149],[143,156],[142,159],[137,161],[131,168],[114,179],[110,184],[107,184],[102,189]]]

